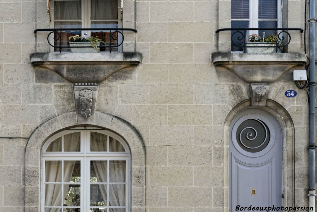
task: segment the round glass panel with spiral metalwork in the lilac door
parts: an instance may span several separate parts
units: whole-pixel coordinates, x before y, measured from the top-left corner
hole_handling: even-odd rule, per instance
[[[268,146],[270,131],[262,120],[247,119],[239,125],[236,140],[243,150],[260,152]]]

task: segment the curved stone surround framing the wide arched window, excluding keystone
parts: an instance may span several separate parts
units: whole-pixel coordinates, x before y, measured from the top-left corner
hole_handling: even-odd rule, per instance
[[[87,126],[100,127],[118,133],[131,149],[132,211],[138,209],[144,212],[145,145],[141,136],[130,123],[119,117],[99,111],[96,111],[94,116],[94,123]],[[25,189],[25,206],[28,206],[28,210],[41,211],[41,148],[43,144],[56,132],[76,126],[78,126],[76,112],[68,112],[47,120],[31,134],[25,149],[25,184],[28,186],[28,189]]]

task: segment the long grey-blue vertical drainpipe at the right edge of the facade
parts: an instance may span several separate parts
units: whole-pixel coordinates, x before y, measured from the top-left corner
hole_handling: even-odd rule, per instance
[[[315,208],[315,58],[316,58],[316,31],[315,31],[315,0],[309,1],[309,208]],[[313,210],[315,211],[315,209]]]

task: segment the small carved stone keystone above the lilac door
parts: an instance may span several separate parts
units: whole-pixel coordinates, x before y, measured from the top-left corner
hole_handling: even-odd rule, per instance
[[[265,106],[268,98],[270,87],[265,83],[250,84],[251,91],[251,105],[252,106]]]

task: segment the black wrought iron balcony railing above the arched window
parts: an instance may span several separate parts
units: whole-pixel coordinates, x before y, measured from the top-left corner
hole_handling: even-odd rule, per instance
[[[69,37],[74,35],[81,36],[83,31],[90,31],[91,36],[98,36],[104,43],[97,46],[101,51],[117,51],[124,41],[124,31],[138,32],[129,28],[67,28],[67,29],[37,29],[34,33],[49,31],[47,42],[54,48],[54,51],[69,51]],[[53,34],[53,37],[51,35]],[[51,42],[54,42],[53,44]],[[72,46],[71,48],[87,48],[87,46]],[[92,47],[93,48],[93,47]]]

